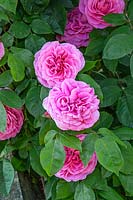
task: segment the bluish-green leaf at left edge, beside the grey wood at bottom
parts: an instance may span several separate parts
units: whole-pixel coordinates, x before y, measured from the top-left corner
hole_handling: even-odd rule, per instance
[[[0,161],[0,193],[8,195],[14,179],[14,169],[8,160]]]

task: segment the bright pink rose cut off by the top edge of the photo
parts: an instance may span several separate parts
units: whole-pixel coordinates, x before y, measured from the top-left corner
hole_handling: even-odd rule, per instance
[[[110,13],[123,13],[124,0],[80,0],[79,9],[86,15],[88,22],[95,28],[103,29],[110,24],[103,16]]]

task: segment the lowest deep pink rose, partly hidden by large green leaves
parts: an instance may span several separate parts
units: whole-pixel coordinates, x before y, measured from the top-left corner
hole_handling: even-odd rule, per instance
[[[84,140],[85,135],[79,135],[79,139]],[[55,174],[58,178],[65,179],[66,181],[79,181],[86,178],[91,174],[97,165],[96,153],[93,153],[87,166],[84,166],[80,159],[80,152],[78,150],[64,147],[66,152],[66,159],[63,167]]]

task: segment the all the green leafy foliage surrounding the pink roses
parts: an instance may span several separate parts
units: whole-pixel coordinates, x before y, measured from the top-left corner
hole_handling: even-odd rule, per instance
[[[47,200],[133,199],[133,0],[124,14],[104,19],[112,27],[94,29],[81,48],[85,67],[78,74],[101,100],[100,119],[82,132],[61,131],[45,118],[42,87],[33,68],[34,54],[63,34],[67,12],[78,0],[0,0],[0,131],[6,128],[3,105],[23,107],[24,126],[16,138],[0,141],[0,194],[8,195],[14,170],[33,169],[44,178]],[[81,144],[75,134],[88,136]],[[98,165],[85,180],[67,183],[53,176],[63,165],[63,146],[80,151],[86,165],[95,151]],[[9,155],[11,159],[8,158]]]

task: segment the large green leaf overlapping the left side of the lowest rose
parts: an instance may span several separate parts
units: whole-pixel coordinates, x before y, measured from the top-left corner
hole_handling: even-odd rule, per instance
[[[40,162],[49,176],[57,173],[65,161],[64,146],[60,140],[50,140],[40,153]]]

